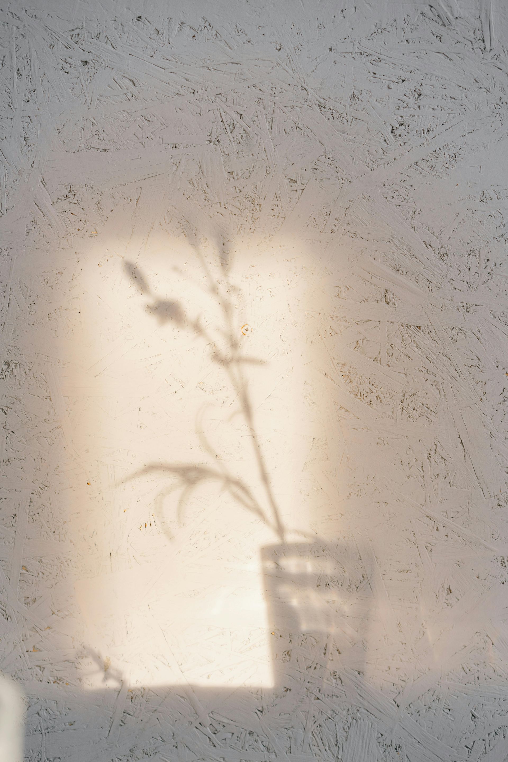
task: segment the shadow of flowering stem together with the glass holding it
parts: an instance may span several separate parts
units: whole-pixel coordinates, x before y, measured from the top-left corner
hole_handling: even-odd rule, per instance
[[[276,696],[278,711],[283,712],[287,703],[291,712],[295,696],[303,694],[311,684],[319,690],[327,680],[330,690],[339,690],[335,677],[330,682],[330,673],[339,666],[343,652],[348,654],[349,663],[354,668],[360,671],[363,668],[362,639],[369,620],[369,607],[362,598],[363,588],[369,584],[370,577],[363,563],[366,554],[361,541],[347,545],[340,539],[329,543],[311,531],[296,530],[295,527],[289,536],[273,494],[260,434],[254,425],[253,402],[245,372],[249,365],[266,363],[244,354],[242,328],[245,326],[238,324],[235,313],[238,290],[228,277],[231,264],[228,253],[222,250],[219,282],[219,278],[212,276],[200,248],[195,246],[194,251],[203,267],[208,293],[219,306],[219,325],[206,325],[203,315],[191,317],[183,299],[159,299],[149,278],[136,264],[127,262],[126,272],[145,297],[145,309],[161,324],[172,324],[178,331],[190,332],[196,342],[206,347],[209,361],[220,366],[238,401],[238,408],[228,421],[241,415],[248,431],[255,469],[249,481],[233,472],[231,464],[219,458],[210,442],[203,415],[197,415],[195,432],[203,452],[209,456],[208,462],[147,463],[129,479],[160,475],[167,482],[158,494],[156,510],[171,540],[175,538],[165,521],[165,498],[177,494],[176,517],[178,522],[183,522],[185,507],[193,493],[207,483],[226,491],[238,507],[273,530],[275,542],[260,548],[261,584],[270,623],[273,696]],[[260,497],[255,494],[254,485],[262,487]],[[294,535],[299,536],[298,542],[295,542]],[[292,671],[294,654],[299,649],[312,662],[302,684]],[[200,693],[208,695],[202,688]],[[245,695],[251,696],[248,692]],[[225,700],[219,691],[215,696],[221,704]],[[253,696],[251,698],[254,701]]]

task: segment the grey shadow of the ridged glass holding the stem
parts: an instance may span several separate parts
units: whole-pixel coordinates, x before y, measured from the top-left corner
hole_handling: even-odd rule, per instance
[[[362,632],[369,616],[367,576],[356,546],[340,542],[286,543],[261,550],[276,693],[307,680],[337,677],[341,655],[363,669]]]

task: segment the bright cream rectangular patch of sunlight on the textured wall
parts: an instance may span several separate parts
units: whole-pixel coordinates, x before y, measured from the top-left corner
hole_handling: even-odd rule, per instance
[[[307,266],[296,242],[155,232],[103,240],[85,264],[62,386],[88,396],[72,434],[88,459],[74,511],[88,687],[104,665],[106,684],[273,685],[267,588],[291,595],[269,549],[308,537]],[[299,626],[329,629],[312,606]]]

